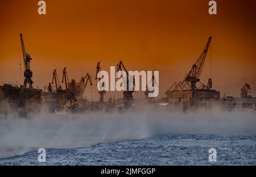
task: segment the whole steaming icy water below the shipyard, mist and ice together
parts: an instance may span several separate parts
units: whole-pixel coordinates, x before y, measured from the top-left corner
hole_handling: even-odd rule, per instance
[[[93,112],[0,119],[0,165],[256,165],[253,112]],[[46,162],[38,162],[38,149]],[[217,162],[209,162],[210,148]]]

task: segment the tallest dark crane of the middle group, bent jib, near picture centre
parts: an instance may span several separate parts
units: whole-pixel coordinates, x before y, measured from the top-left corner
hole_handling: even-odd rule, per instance
[[[122,71],[122,69],[125,70],[126,72],[126,81],[127,81],[127,84],[126,84],[127,90],[123,91],[123,103],[125,104],[125,106],[131,106],[133,102],[133,92],[134,92],[135,82],[133,79],[133,90],[130,91],[129,90],[129,73],[126,70],[125,65],[123,65],[123,62],[120,61],[119,64],[117,64],[117,72]]]

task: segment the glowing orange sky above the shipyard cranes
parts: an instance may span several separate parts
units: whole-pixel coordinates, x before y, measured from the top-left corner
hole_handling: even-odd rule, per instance
[[[51,82],[55,68],[61,77],[64,66],[70,79],[90,73],[95,83],[97,61],[109,71],[122,60],[128,70],[159,70],[162,96],[183,79],[212,36],[214,89],[238,96],[249,83],[255,96],[256,1],[218,0],[217,15],[208,14],[208,2],[48,0],[47,15],[39,15],[37,0],[2,0],[0,81],[23,82],[22,32],[34,86]],[[206,84],[209,56],[200,77]]]

